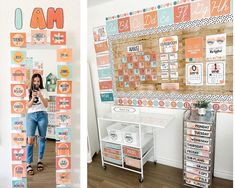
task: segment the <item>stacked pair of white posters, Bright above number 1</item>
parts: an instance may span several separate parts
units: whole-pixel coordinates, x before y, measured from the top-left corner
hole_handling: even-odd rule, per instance
[[[225,85],[226,34],[206,36],[206,84]]]

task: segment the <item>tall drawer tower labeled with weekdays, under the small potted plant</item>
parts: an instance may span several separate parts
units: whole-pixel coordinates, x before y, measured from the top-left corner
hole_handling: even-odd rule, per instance
[[[216,113],[184,113],[183,177],[191,187],[211,187],[214,172]]]

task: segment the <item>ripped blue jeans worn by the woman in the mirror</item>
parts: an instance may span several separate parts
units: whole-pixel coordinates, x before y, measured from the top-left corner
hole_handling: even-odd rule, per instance
[[[46,133],[48,126],[48,114],[45,111],[33,112],[27,114],[26,133],[27,138],[34,138],[36,128],[38,127],[39,133],[39,146],[38,146],[38,159],[42,160],[45,145],[46,145]],[[33,162],[33,144],[27,143],[27,163]]]

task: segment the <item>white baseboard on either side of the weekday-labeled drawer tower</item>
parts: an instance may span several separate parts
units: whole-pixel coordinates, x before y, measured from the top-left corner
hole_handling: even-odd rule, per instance
[[[152,158],[151,158],[151,161],[153,161]],[[171,160],[171,159],[164,158],[164,157],[158,157],[157,163],[182,169],[182,161],[175,161],[175,160]],[[233,180],[233,172],[231,171],[215,170],[214,176],[217,178]]]

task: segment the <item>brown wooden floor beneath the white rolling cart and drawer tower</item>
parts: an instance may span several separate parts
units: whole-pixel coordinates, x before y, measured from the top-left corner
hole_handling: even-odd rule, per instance
[[[144,182],[139,175],[113,166],[104,170],[100,155],[88,164],[88,188],[182,188],[182,170],[147,162],[144,166]],[[233,182],[220,178],[213,179],[213,188],[232,188]]]

